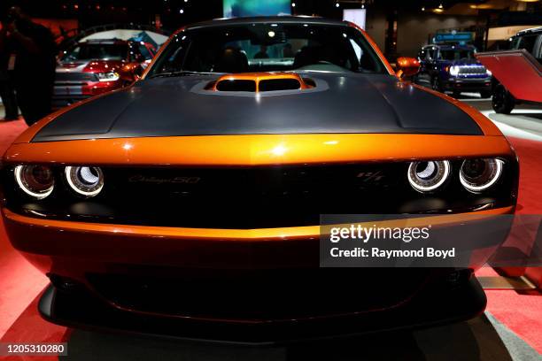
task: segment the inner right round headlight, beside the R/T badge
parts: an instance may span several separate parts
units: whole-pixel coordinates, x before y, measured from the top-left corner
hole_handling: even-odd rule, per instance
[[[408,181],[418,192],[431,192],[442,186],[450,175],[450,162],[430,160],[412,162],[408,166]]]

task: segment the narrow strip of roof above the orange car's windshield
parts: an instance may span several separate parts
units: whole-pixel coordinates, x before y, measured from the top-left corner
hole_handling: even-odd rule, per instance
[[[332,25],[332,26],[348,26],[347,21],[336,19],[325,19],[313,16],[258,16],[251,18],[228,18],[228,19],[213,19],[208,21],[192,24],[186,29],[195,29],[201,27],[224,27],[245,24],[314,24],[314,25]]]

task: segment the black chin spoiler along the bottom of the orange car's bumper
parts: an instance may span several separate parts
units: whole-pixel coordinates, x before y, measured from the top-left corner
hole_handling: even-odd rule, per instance
[[[393,284],[389,287],[392,288]],[[322,292],[325,290],[322,289]],[[217,302],[220,302],[220,299],[217,299]],[[123,311],[100,302],[88,293],[66,293],[52,286],[43,293],[39,311],[44,319],[63,326],[207,342],[262,345],[460,322],[481,314],[485,305],[484,290],[476,278],[471,277],[455,285],[440,283],[424,288],[400,307],[326,319],[290,319],[283,322],[244,324],[217,323],[205,319],[172,319]]]

